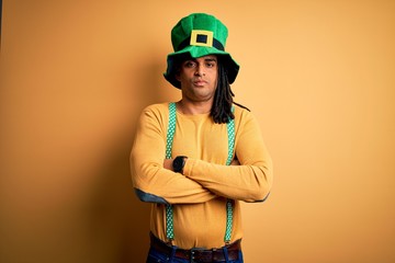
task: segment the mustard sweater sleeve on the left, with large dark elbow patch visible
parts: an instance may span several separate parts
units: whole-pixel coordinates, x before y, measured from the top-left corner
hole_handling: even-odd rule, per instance
[[[162,105],[163,106],[163,105]],[[139,117],[131,153],[133,185],[143,202],[204,203],[217,197],[198,182],[163,168],[167,108],[148,106]]]

